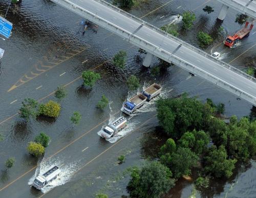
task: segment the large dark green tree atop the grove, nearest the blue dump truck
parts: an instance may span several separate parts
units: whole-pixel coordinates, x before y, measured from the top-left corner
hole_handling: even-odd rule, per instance
[[[202,129],[209,122],[211,112],[207,105],[195,97],[183,94],[179,98],[157,101],[157,117],[164,132],[172,138],[180,138],[183,133]]]

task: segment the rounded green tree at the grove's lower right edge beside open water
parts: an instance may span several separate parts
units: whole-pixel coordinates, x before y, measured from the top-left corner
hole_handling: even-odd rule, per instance
[[[227,152],[223,145],[219,149],[215,145],[211,146],[204,157],[205,173],[212,174],[217,178],[229,178],[233,174],[232,171],[237,160],[227,159],[227,157]]]

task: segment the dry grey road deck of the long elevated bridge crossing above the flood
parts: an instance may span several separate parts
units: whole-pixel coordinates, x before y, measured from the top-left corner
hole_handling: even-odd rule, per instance
[[[252,100],[247,100],[256,105],[256,81],[249,80],[245,75],[241,75],[239,72],[234,72],[227,67],[222,66],[222,62],[207,57],[203,53],[199,53],[199,50],[192,49],[184,41],[180,41],[173,38],[168,38],[165,35],[154,30],[152,27],[142,25],[138,20],[133,19],[131,16],[120,13],[117,9],[103,5],[99,1],[94,0],[52,0],[53,2],[60,4],[65,3],[69,6],[63,6],[76,13],[76,9],[73,7],[80,7],[85,12],[90,12],[96,15],[96,17],[103,18],[104,20],[115,24],[120,29],[129,32],[131,35],[135,35],[142,40],[145,40],[155,46],[158,46],[162,50],[166,51],[172,56],[176,56],[183,62],[189,65],[193,65],[198,70],[207,73],[215,79],[224,82],[226,85],[232,87],[232,89],[243,92]],[[75,5],[73,5],[75,4]],[[73,6],[72,6],[73,5]],[[81,13],[81,12],[80,12]],[[79,13],[77,13],[79,14]],[[97,20],[95,20],[97,21]],[[108,29],[108,28],[106,28]],[[121,36],[121,35],[120,35]],[[133,44],[136,44],[132,42]],[[138,46],[140,46],[138,44]],[[159,57],[161,58],[161,57]],[[181,65],[178,65],[181,66]],[[182,66],[181,66],[182,67]],[[184,68],[184,67],[182,67]],[[204,78],[204,77],[203,77]],[[204,78],[208,80],[207,78]],[[210,80],[209,80],[210,81]],[[211,81],[210,81],[211,82]],[[217,83],[216,83],[217,84]],[[220,86],[219,84],[217,84]],[[222,87],[222,86],[220,86]],[[222,87],[226,90],[228,88]],[[238,96],[240,94],[234,93]]]

